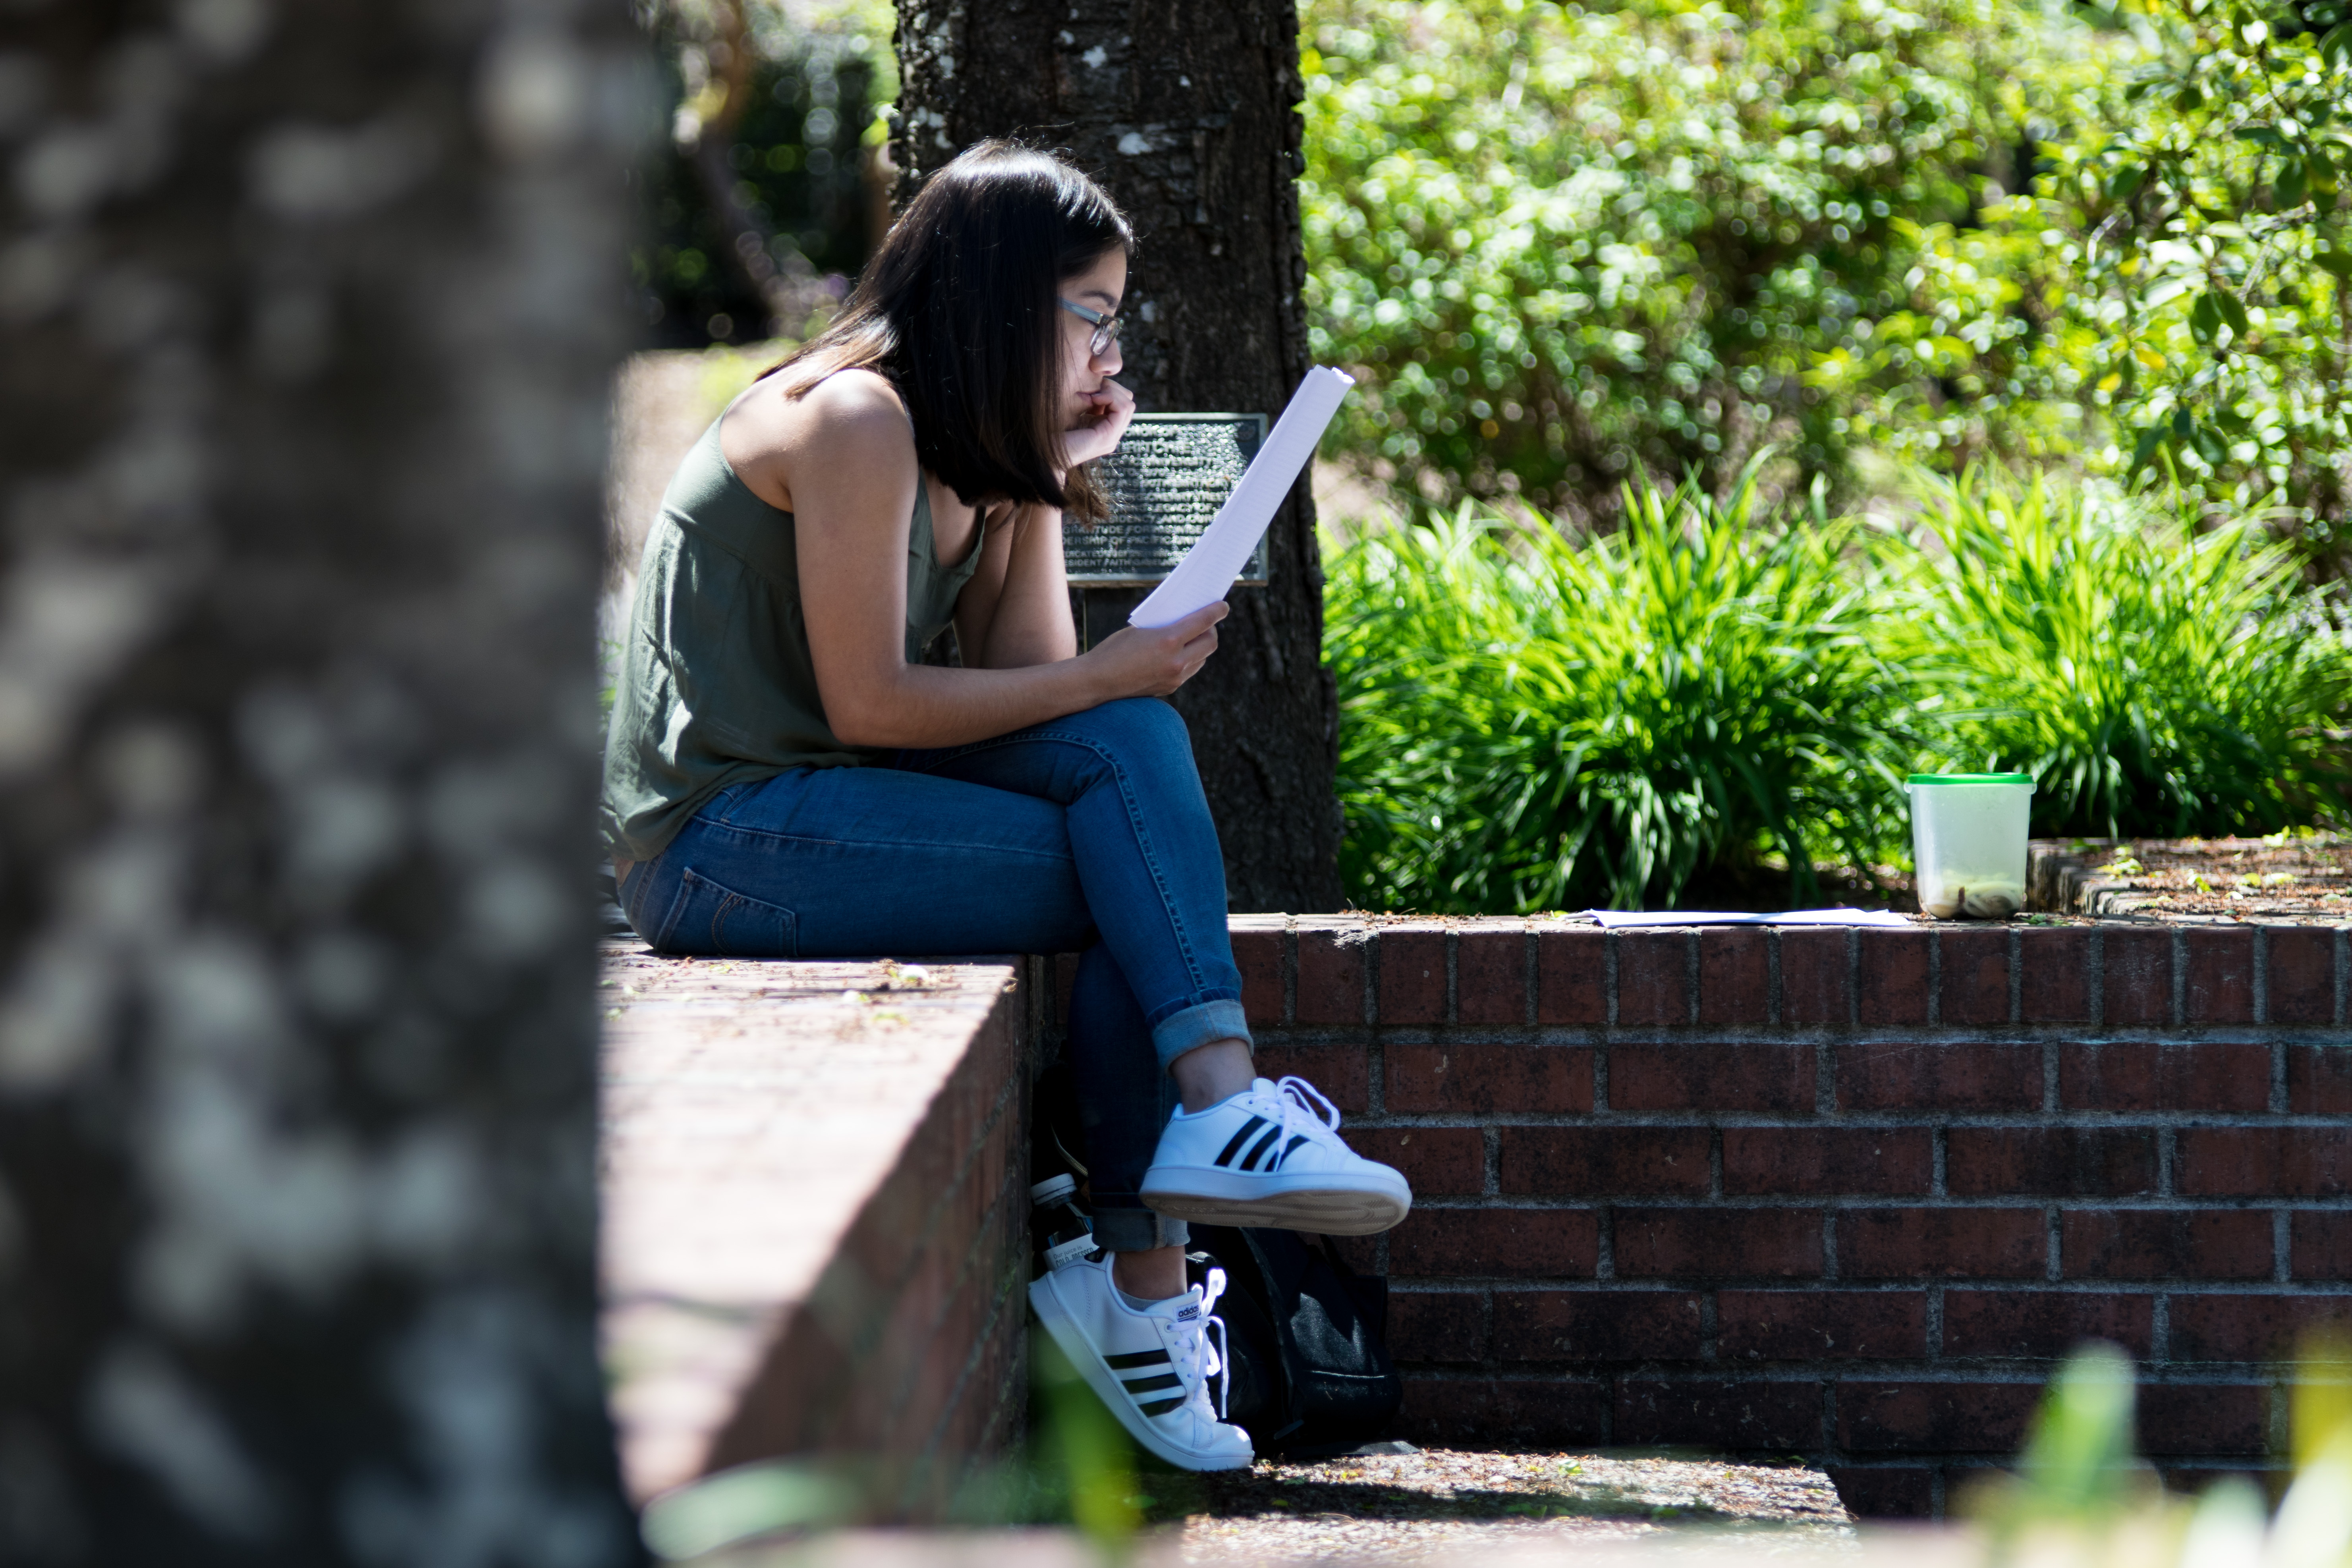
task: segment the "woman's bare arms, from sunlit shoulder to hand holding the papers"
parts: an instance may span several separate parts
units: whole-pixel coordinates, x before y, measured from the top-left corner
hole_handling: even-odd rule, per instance
[[[750,402],[741,414],[753,414]],[[1223,604],[1150,632],[1124,628],[1073,658],[1068,607],[1051,628],[1040,597],[1047,576],[1061,578],[1061,520],[1040,510],[1051,529],[1023,538],[1016,524],[1007,541],[1000,604],[981,635],[993,668],[908,665],[906,550],[920,477],[896,395],[880,376],[849,371],[797,402],[767,397],[755,418],[741,435],[757,454],[739,468],[764,470],[746,475],[755,491],[771,494],[786,477],[816,686],[844,743],[964,745],[1122,696],[1167,696],[1216,649]],[[727,444],[731,454],[734,430]],[[1000,644],[1007,658],[1047,661],[997,665]]]

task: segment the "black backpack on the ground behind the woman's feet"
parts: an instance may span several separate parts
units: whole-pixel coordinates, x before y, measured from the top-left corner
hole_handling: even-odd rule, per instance
[[[1404,1401],[1385,1279],[1294,1229],[1195,1225],[1188,1262],[1192,1284],[1225,1269],[1225,1420],[1261,1458],[1329,1458],[1385,1436]]]

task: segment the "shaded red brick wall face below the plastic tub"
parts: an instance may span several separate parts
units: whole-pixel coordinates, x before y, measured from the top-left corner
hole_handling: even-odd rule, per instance
[[[1232,933],[1263,1070],[1414,1180],[1362,1246],[1409,1436],[1799,1453],[1931,1514],[2093,1335],[2157,1465],[2263,1469],[2277,1356],[2352,1316],[2343,931]]]

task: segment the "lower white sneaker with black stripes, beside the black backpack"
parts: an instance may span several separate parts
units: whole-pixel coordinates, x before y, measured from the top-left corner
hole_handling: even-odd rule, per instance
[[[1030,1281],[1030,1307],[1138,1443],[1178,1469],[1249,1469],[1249,1434],[1221,1420],[1225,1324],[1209,1309],[1223,1288],[1225,1269],[1209,1269],[1207,1291],[1192,1286],[1138,1312],[1120,1300],[1103,1253]]]

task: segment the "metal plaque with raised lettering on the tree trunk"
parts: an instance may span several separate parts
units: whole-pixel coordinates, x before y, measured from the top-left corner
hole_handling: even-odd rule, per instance
[[[1120,449],[1096,465],[1110,517],[1061,527],[1070,585],[1143,588],[1174,571],[1263,440],[1263,414],[1136,414]],[[1263,538],[1240,581],[1265,585]]]

